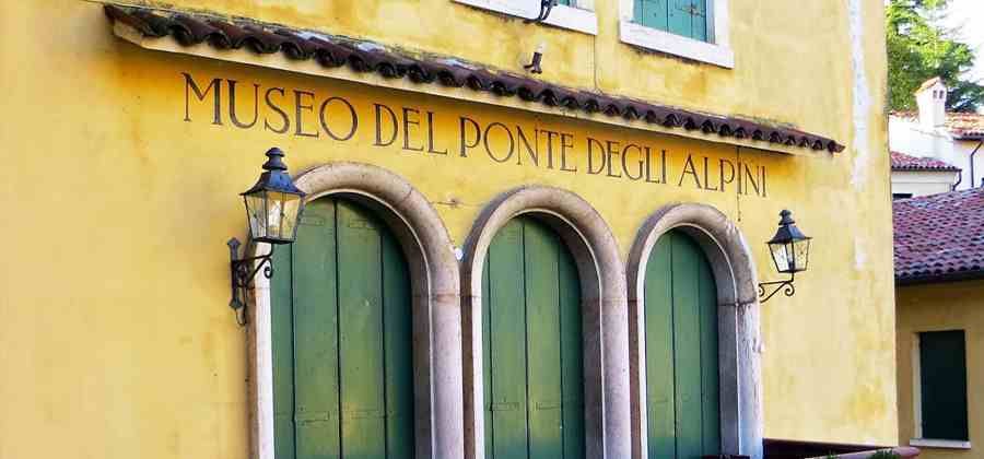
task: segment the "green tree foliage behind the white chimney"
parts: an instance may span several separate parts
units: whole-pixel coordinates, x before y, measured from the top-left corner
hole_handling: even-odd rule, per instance
[[[886,7],[889,59],[889,108],[914,110],[913,93],[934,76],[949,87],[947,110],[974,111],[984,104],[984,86],[967,72],[973,50],[941,25],[950,0],[890,0]]]

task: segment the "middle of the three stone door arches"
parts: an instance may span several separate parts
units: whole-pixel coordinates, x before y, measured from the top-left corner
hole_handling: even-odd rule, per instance
[[[484,455],[482,269],[492,238],[517,215],[532,215],[550,225],[577,264],[584,314],[586,456],[628,458],[631,451],[629,316],[625,271],[618,243],[587,201],[571,191],[543,186],[526,186],[500,195],[481,212],[466,240],[461,263],[465,457],[482,459]]]

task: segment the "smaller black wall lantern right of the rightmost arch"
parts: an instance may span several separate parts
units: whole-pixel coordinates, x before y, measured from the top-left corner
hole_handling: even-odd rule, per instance
[[[793,280],[797,272],[807,270],[807,263],[810,261],[810,239],[812,238],[804,235],[796,227],[793,212],[784,210],[780,212],[780,228],[766,244],[769,244],[769,254],[772,255],[776,271],[789,274],[789,279],[759,284],[760,303],[768,302],[780,290],[783,290],[783,294],[786,296],[793,296],[796,293]],[[774,286],[768,295],[765,294],[766,286]]]

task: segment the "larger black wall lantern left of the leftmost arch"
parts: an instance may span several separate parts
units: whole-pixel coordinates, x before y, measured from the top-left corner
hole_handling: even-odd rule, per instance
[[[273,247],[291,244],[297,235],[297,222],[304,213],[304,191],[294,186],[281,160],[283,152],[273,148],[267,152],[263,172],[253,188],[242,193],[249,221],[249,242],[270,244],[270,251],[257,257],[239,258],[239,240],[229,239],[232,271],[232,299],[236,320],[246,325],[246,293],[253,278],[263,269],[267,279],[273,276]]]

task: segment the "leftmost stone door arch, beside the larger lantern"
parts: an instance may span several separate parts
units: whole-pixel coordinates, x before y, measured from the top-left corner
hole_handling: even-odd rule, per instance
[[[454,245],[436,210],[406,179],[367,164],[326,164],[300,174],[294,183],[308,202],[339,196],[367,207],[399,240],[412,283],[417,457],[462,457],[460,278]],[[269,248],[260,245],[256,250]],[[253,457],[259,459],[273,459],[269,293],[269,281],[258,276],[249,334]]]

